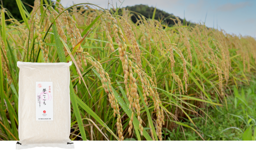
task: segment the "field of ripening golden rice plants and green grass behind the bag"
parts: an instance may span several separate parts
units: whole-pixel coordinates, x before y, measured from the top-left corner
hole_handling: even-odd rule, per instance
[[[0,140],[18,140],[17,61],[72,61],[72,141],[255,140],[255,38],[123,8],[16,2],[22,21],[1,7]]]

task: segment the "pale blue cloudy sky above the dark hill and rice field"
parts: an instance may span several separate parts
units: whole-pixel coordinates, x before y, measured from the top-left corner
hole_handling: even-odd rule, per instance
[[[123,0],[109,0],[114,6],[120,6]],[[61,0],[63,6],[79,3],[93,3],[103,8],[108,0]],[[133,6],[146,4],[173,13],[192,22],[204,22],[206,26],[223,29],[229,34],[250,35],[256,38],[256,0],[125,0],[122,4]],[[206,16],[207,14],[207,16]],[[206,20],[205,20],[206,18]]]

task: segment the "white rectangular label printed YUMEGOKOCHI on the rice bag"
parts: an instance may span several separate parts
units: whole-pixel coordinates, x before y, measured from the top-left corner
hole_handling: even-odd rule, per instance
[[[35,120],[53,120],[52,82],[35,82]]]

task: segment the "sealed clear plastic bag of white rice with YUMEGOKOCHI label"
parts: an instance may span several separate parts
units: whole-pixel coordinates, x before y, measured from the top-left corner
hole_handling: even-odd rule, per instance
[[[17,62],[20,71],[16,149],[74,149],[69,139],[71,64]]]

